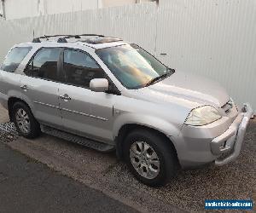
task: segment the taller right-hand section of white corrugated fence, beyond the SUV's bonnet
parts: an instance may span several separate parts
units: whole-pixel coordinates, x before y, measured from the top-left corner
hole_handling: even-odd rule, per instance
[[[157,33],[160,60],[218,81],[256,112],[255,0],[160,0]]]

